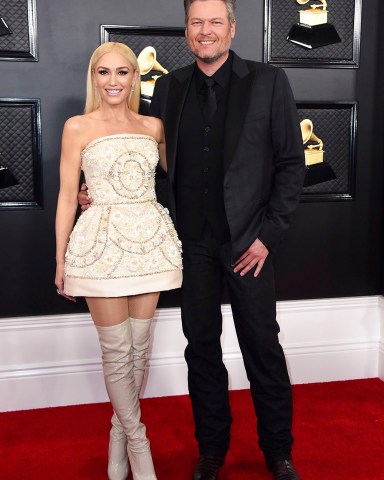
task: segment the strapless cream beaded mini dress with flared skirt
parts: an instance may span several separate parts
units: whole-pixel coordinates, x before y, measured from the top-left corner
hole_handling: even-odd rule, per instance
[[[179,288],[181,242],[156,200],[158,144],[146,135],[109,135],[81,152],[91,206],[65,255],[64,291],[119,297]]]

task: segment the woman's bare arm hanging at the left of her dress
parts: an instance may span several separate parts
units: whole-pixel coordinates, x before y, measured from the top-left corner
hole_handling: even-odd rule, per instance
[[[61,295],[64,290],[64,257],[77,210],[77,194],[81,170],[81,128],[79,117],[67,120],[64,125],[60,158],[60,191],[56,210],[56,278]]]

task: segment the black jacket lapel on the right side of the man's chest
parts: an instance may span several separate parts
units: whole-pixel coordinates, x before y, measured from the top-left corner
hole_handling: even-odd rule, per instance
[[[224,175],[235,155],[252,91],[253,76],[246,62],[233,53],[224,141]]]

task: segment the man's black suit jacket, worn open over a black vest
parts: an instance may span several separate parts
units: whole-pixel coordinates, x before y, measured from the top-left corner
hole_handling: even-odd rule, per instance
[[[150,108],[164,122],[168,208],[176,227],[178,129],[194,68],[159,78]],[[274,251],[297,206],[305,169],[296,104],[283,70],[233,54],[224,139],[224,204],[233,258],[256,238]]]

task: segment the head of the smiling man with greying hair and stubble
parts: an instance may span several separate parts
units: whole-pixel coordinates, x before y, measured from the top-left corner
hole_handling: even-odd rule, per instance
[[[221,0],[196,0],[189,9],[185,36],[196,58],[214,63],[228,54],[235,36],[235,22],[228,21],[225,3]]]

